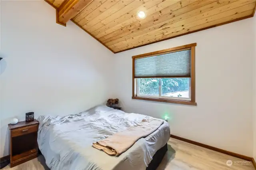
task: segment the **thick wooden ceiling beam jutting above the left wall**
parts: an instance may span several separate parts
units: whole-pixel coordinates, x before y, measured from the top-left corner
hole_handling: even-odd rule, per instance
[[[90,4],[92,0],[65,0],[59,8],[56,9],[56,23],[66,26],[71,18],[76,16],[80,10]]]

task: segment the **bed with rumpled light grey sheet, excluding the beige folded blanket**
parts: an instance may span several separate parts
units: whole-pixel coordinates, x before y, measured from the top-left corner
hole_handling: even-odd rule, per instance
[[[170,138],[165,121],[119,156],[92,147],[92,142],[136,125],[145,117],[104,105],[76,115],[40,116],[38,147],[51,170],[153,170],[161,162]]]

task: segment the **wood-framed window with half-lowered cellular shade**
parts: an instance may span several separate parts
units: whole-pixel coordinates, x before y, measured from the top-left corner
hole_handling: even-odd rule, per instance
[[[132,57],[132,99],[196,105],[196,43]]]

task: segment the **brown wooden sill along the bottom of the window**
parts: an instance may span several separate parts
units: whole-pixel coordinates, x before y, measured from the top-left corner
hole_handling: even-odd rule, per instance
[[[196,102],[185,101],[185,100],[159,99],[159,98],[137,97],[137,96],[133,96],[132,99],[147,100],[147,101],[158,101],[158,102],[165,102],[165,103],[176,103],[176,104],[182,104],[182,105],[193,105],[193,106],[196,106]]]

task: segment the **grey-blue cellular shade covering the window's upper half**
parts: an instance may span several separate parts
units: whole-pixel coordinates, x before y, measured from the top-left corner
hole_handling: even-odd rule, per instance
[[[191,50],[135,59],[134,77],[190,77]]]

